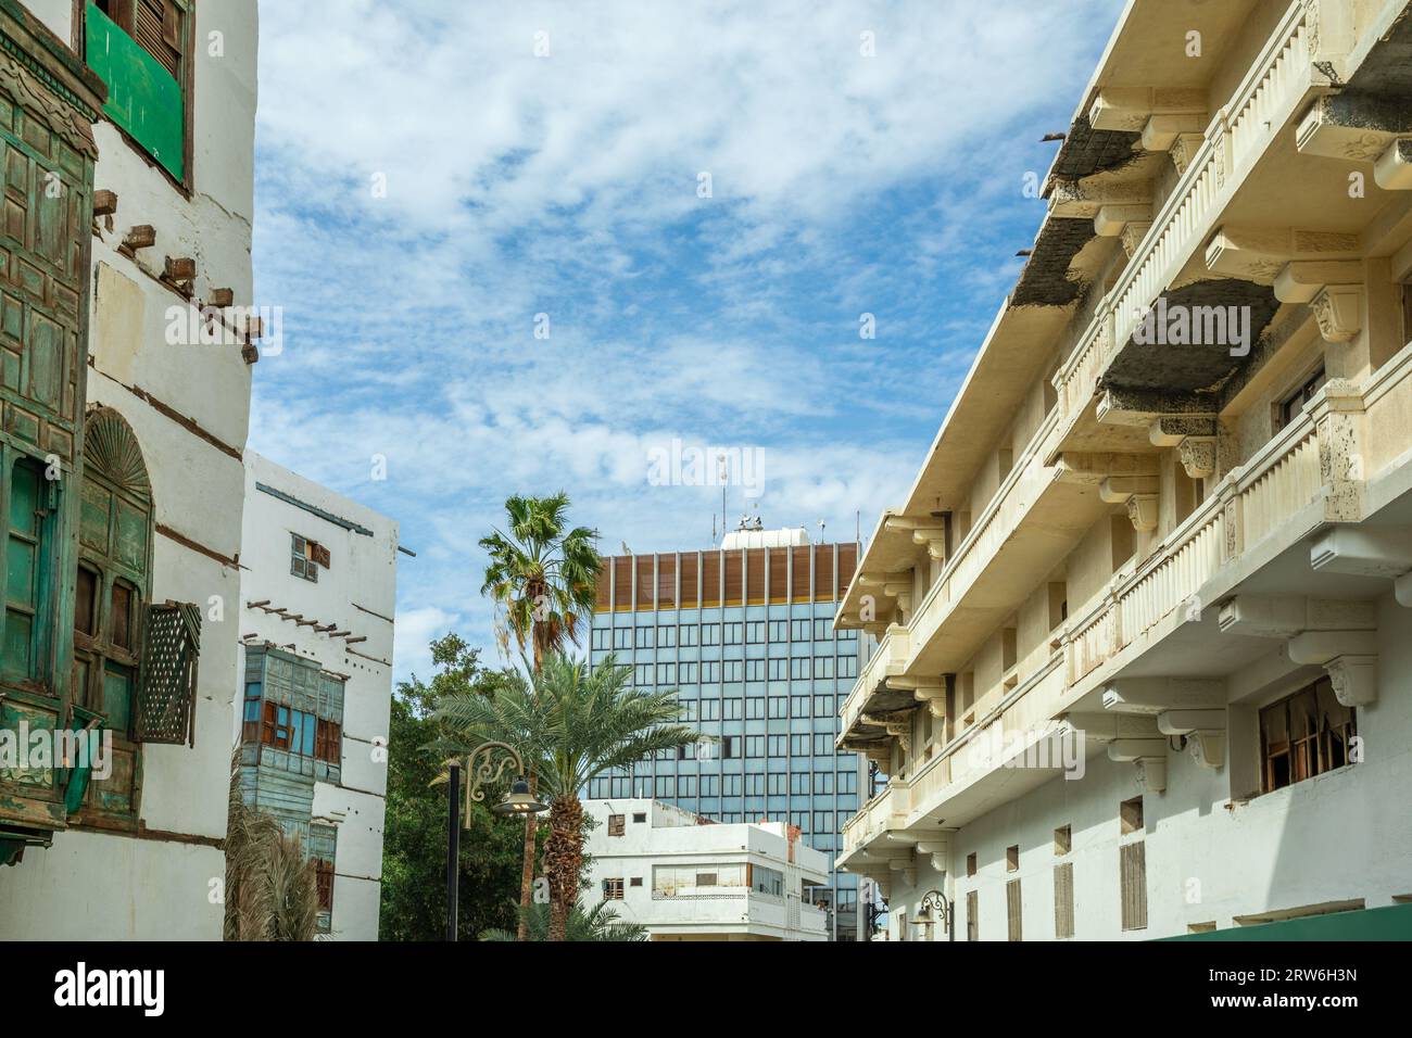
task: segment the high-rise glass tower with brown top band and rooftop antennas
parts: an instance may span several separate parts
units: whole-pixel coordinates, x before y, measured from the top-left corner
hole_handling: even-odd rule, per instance
[[[593,664],[614,655],[635,685],[676,689],[702,739],[594,780],[589,795],[788,822],[832,863],[866,768],[834,750],[858,640],[836,633],[833,614],[857,558],[857,544],[813,545],[803,530],[743,528],[707,551],[604,559]],[[830,873],[815,900],[827,902],[834,939],[858,939],[856,876]]]

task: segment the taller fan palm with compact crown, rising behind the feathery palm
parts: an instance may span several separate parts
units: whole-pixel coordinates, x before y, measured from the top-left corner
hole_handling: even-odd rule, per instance
[[[569,496],[521,497],[505,501],[508,534],[498,530],[480,538],[490,555],[481,595],[496,602],[496,633],[508,648],[511,636],[524,654],[534,652],[534,671],[545,654],[556,652],[565,640],[579,643],[579,617],[593,609],[603,562],[593,547],[593,531],[568,527]],[[530,775],[530,792],[537,792],[537,775]],[[538,822],[525,819],[525,854],[520,871],[520,926],[524,941],[530,931],[525,912],[534,887],[534,845]]]

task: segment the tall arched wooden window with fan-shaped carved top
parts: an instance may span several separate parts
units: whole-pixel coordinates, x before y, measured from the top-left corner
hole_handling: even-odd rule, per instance
[[[136,703],[144,606],[151,600],[152,487],[137,436],[112,408],[89,412],[83,434],[79,572],[73,603],[73,702],[113,733],[113,772],[86,809],[137,811]]]

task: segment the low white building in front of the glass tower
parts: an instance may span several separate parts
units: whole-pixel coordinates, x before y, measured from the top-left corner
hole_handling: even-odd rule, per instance
[[[587,801],[586,908],[652,941],[826,941],[829,859],[784,822],[709,822],[652,799]]]

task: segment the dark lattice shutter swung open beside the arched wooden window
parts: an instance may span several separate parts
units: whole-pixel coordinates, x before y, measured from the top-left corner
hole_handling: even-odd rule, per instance
[[[201,609],[168,602],[147,607],[137,741],[196,744],[196,657]]]

